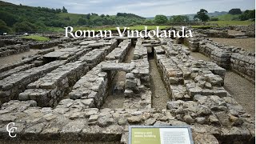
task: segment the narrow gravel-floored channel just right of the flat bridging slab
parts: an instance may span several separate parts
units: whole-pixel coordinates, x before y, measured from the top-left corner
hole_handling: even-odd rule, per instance
[[[158,67],[154,58],[150,62],[150,90],[152,92],[152,107],[166,109],[167,102],[170,100],[166,87],[162,82]]]

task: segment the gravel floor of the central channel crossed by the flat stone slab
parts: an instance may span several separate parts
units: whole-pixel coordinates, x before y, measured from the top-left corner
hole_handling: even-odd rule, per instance
[[[134,46],[130,48],[128,51],[128,54],[126,55],[125,63],[130,63],[131,60],[134,58]],[[126,72],[124,71],[118,71],[118,73],[114,76],[114,80],[110,84],[110,90],[109,94],[106,97],[106,101],[104,102],[102,108],[112,108],[112,109],[118,109],[123,108],[123,103],[126,101],[124,94],[112,94],[112,88],[116,83],[126,82]]]

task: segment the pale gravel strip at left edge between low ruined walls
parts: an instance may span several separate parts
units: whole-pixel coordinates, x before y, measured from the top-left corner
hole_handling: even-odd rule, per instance
[[[8,55],[6,57],[2,57],[2,58],[0,58],[0,66],[18,62],[18,61],[22,60],[22,57],[36,54],[37,52],[38,52],[38,50],[30,49],[30,51],[25,51],[23,53],[12,54],[12,55]]]

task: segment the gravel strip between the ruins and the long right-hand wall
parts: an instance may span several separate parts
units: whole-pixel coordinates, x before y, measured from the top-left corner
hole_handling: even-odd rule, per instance
[[[200,53],[191,52],[191,55],[195,59],[210,61],[210,58],[207,58],[205,55]],[[254,84],[232,71],[227,71],[224,79],[224,88],[234,97],[234,99],[236,99],[240,105],[242,105],[248,114],[251,114],[252,118],[255,117]]]

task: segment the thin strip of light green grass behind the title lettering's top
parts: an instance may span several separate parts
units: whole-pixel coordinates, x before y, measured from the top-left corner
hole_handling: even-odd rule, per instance
[[[123,30],[124,27],[129,27],[130,30],[145,30],[146,25],[138,26],[108,26],[108,27],[74,27],[74,30],[117,30],[116,27],[120,27],[120,30]],[[159,29],[165,29],[170,26],[159,26]],[[147,30],[155,30],[156,26],[147,26]]]

